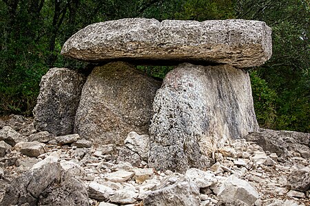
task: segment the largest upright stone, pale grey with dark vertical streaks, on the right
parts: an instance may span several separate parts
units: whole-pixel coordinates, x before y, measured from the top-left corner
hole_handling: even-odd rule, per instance
[[[258,130],[249,75],[229,65],[188,63],[170,71],[153,103],[149,165],[185,172],[209,166],[206,155]]]

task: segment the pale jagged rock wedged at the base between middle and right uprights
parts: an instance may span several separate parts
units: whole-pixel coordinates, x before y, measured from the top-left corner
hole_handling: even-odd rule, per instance
[[[146,161],[149,150],[149,135],[138,135],[135,132],[130,132],[125,139],[125,146]]]

